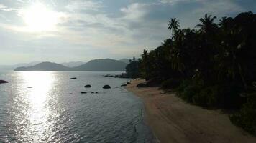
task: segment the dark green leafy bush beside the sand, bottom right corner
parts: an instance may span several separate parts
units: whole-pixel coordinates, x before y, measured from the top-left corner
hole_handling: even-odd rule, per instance
[[[230,116],[230,120],[239,127],[256,135],[256,93],[250,94],[242,109]]]

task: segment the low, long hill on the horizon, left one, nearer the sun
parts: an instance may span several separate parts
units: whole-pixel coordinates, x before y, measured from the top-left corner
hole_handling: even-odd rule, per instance
[[[71,68],[52,62],[42,62],[35,66],[18,67],[14,71],[70,71]]]

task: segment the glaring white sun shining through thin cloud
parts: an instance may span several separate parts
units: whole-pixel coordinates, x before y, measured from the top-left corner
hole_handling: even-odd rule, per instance
[[[47,9],[44,4],[35,3],[22,11],[22,17],[29,31],[52,31],[58,24],[58,13]]]

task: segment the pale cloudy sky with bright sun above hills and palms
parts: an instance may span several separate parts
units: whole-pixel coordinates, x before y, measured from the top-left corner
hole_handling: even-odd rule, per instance
[[[256,12],[255,0],[0,0],[0,64],[139,57],[204,14]]]

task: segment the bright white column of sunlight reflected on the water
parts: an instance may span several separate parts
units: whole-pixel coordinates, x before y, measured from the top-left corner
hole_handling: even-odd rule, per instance
[[[24,86],[27,88],[27,120],[32,142],[42,142],[45,140],[45,134],[52,133],[50,129],[51,109],[48,101],[51,98],[53,82],[55,77],[49,71],[26,71],[22,72]]]

